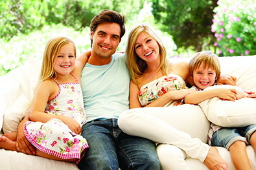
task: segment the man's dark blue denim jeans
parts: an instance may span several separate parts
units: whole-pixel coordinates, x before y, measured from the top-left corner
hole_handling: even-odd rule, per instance
[[[82,136],[89,148],[78,164],[79,169],[160,169],[155,143],[123,133],[117,119],[87,122],[82,127]]]

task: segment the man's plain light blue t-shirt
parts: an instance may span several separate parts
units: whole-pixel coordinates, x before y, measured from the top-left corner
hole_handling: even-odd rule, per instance
[[[81,75],[87,121],[118,118],[129,109],[130,73],[124,54],[115,53],[108,65],[86,63]]]

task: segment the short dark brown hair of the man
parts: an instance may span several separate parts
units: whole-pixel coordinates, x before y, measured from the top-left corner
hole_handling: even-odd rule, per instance
[[[115,12],[113,10],[102,10],[97,16],[93,17],[90,24],[90,30],[91,32],[95,32],[96,28],[100,23],[117,23],[120,25],[121,28],[121,34],[120,34],[120,40],[122,36],[124,36],[125,33],[125,27],[124,27],[125,17],[121,16],[118,12]],[[93,40],[91,39],[91,44],[93,43]]]

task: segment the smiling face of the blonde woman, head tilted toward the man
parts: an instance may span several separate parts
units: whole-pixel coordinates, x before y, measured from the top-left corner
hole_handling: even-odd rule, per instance
[[[141,32],[135,41],[135,52],[139,58],[151,63],[159,56],[159,45],[157,41],[146,32]]]

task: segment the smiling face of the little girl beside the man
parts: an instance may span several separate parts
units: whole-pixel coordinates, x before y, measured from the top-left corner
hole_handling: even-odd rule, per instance
[[[75,68],[75,48],[68,44],[60,48],[54,61],[54,70],[58,75],[67,75]]]

